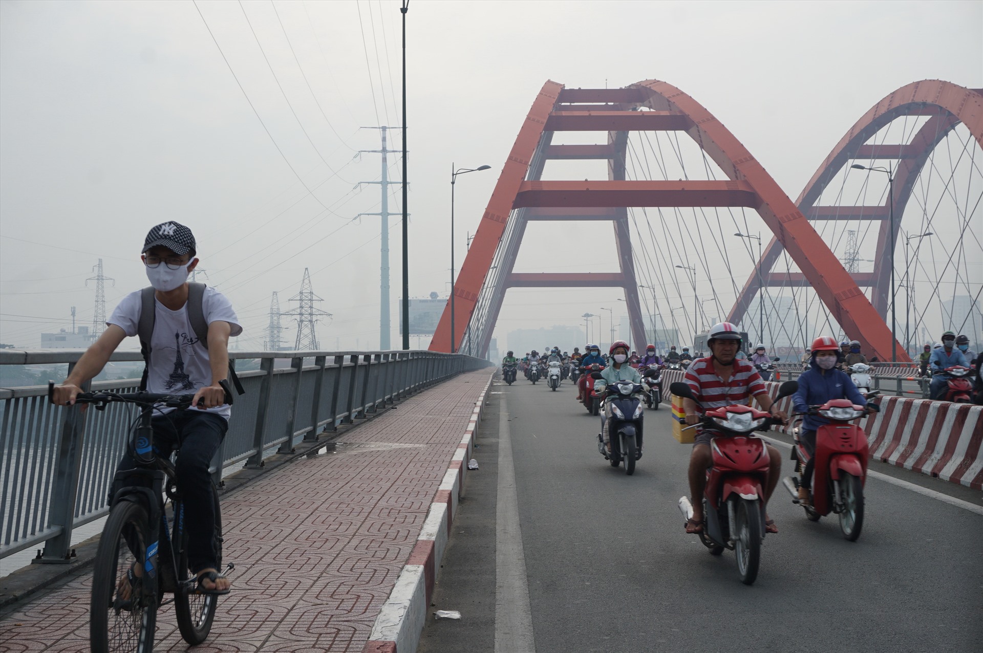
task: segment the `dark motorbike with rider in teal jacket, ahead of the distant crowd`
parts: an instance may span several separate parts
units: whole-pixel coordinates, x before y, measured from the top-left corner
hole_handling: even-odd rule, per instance
[[[611,407],[611,423],[607,425],[611,450],[607,451],[602,433],[598,433],[598,451],[616,467],[624,463],[624,473],[635,473],[635,463],[642,458],[642,401],[639,395],[642,386],[631,381],[618,381],[606,385],[601,378],[601,372],[594,372],[594,387],[598,394],[604,395],[605,403]],[[604,428],[604,411],[601,413],[601,424]]]

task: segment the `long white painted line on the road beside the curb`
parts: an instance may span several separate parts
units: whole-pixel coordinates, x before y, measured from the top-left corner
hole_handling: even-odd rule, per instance
[[[519,527],[519,499],[512,463],[508,407],[501,399],[498,426],[498,495],[495,507],[495,653],[536,653],[529,607],[526,554]]]

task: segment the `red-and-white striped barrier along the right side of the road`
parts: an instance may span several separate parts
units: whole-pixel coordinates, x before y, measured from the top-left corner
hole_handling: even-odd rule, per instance
[[[663,378],[668,391],[682,373],[668,371]],[[775,398],[781,383],[766,385]],[[861,422],[872,459],[983,490],[983,407],[887,396],[878,404],[881,411]],[[782,399],[779,408],[791,414],[792,398]],[[790,432],[788,426],[777,430]]]

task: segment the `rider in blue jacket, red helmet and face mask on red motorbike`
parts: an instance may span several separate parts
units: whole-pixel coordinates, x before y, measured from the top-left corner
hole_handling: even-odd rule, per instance
[[[796,412],[808,413],[810,406],[821,406],[830,400],[848,399],[857,406],[867,406],[867,400],[853,385],[853,381],[845,372],[836,369],[842,358],[837,341],[830,336],[820,336],[812,342],[812,360],[810,367],[798,378],[798,390],[792,395],[792,406]],[[872,408],[867,408],[870,412]],[[816,431],[823,424],[830,423],[826,417],[806,414],[802,418],[802,431],[799,440],[809,452],[809,462],[802,472],[802,484],[799,485],[799,503],[810,504],[812,497],[812,471],[816,452]]]

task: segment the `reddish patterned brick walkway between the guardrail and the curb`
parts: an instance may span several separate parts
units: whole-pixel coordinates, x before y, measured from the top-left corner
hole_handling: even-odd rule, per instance
[[[362,651],[492,370],[430,388],[224,499],[233,592],[193,650]],[[9,615],[0,650],[87,651],[89,584],[84,574]],[[156,641],[187,650],[169,606]]]

